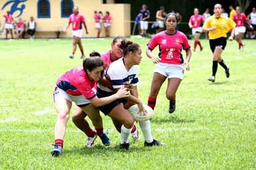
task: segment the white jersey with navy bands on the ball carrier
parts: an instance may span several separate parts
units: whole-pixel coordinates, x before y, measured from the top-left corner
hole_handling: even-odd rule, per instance
[[[114,89],[123,87],[124,84],[137,86],[139,83],[139,65],[133,65],[129,71],[124,66],[124,58],[120,58],[110,64],[105,72],[106,77],[110,79]],[[114,92],[113,89],[105,87],[98,83],[97,91]]]

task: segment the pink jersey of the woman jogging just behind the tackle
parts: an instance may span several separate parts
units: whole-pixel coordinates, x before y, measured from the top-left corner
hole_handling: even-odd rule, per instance
[[[157,45],[159,45],[160,62],[167,64],[182,64],[181,50],[190,48],[187,37],[180,31],[176,31],[174,34],[162,31],[153,36],[147,44],[150,50],[154,50]]]

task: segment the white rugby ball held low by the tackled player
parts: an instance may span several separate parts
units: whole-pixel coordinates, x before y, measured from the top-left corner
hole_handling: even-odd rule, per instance
[[[131,106],[128,111],[133,115],[134,119],[139,122],[143,122],[152,118],[154,111],[151,107],[143,104],[147,113],[139,113],[138,105]]]

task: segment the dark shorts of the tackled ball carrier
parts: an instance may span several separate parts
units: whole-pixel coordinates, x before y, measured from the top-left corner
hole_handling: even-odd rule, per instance
[[[97,88],[97,96],[98,98],[105,98],[107,96],[110,96],[112,95],[113,93],[109,93],[109,92],[105,92],[99,88]],[[100,106],[98,107],[98,109],[104,113],[105,115],[108,115],[117,105],[119,104],[125,104],[127,101],[125,99],[117,99],[107,105],[104,105],[104,106]]]

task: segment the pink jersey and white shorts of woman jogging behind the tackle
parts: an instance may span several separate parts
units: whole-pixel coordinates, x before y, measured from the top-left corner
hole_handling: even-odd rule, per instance
[[[148,49],[151,51],[159,45],[159,57],[160,62],[156,65],[154,72],[158,72],[164,77],[183,79],[183,56],[182,49],[187,51],[190,48],[188,39],[180,31],[174,34],[168,34],[166,31],[162,31],[156,34],[150,42],[148,42]]]

